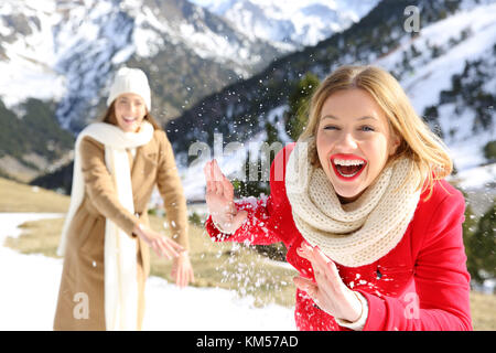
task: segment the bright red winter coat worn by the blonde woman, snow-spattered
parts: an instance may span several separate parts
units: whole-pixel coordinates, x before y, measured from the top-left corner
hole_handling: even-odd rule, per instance
[[[216,240],[254,245],[283,242],[288,263],[302,277],[314,279],[310,263],[296,255],[303,237],[294,225],[284,182],[273,178],[274,164],[281,165],[284,158],[285,179],[285,163],[293,147],[294,143],[289,145],[277,154],[267,200],[236,203],[238,210],[248,212],[248,220],[235,234],[220,233],[212,216],[205,225]],[[421,194],[403,237],[387,255],[355,268],[336,263],[344,284],[367,299],[369,311],[364,330],[472,330],[470,275],[462,238],[463,194],[442,180],[424,202],[427,195],[428,191]],[[299,289],[294,318],[299,330],[348,330]]]

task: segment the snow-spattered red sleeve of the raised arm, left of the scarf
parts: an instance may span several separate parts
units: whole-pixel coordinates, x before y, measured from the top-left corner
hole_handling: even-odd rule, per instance
[[[270,167],[270,195],[260,199],[246,197],[236,202],[237,210],[248,212],[246,222],[235,234],[224,234],[218,231],[209,216],[205,223],[208,235],[217,242],[237,242],[252,245],[269,245],[284,242],[284,215],[288,214],[289,201],[285,194],[285,163],[294,143],[288,145],[276,156]],[[285,242],[284,242],[285,243]]]

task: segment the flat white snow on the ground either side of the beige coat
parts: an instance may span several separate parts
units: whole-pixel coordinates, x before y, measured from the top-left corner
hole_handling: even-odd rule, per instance
[[[20,224],[61,214],[0,213],[0,245]],[[62,259],[0,246],[0,330],[52,330]],[[293,309],[255,308],[250,297],[219,288],[180,289],[159,277],[147,285],[144,330],[295,330]]]

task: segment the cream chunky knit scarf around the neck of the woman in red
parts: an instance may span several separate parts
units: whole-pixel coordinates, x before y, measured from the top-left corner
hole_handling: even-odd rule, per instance
[[[399,243],[417,208],[417,182],[406,180],[412,161],[397,160],[359,199],[342,205],[325,172],[310,163],[308,151],[314,146],[314,140],[298,142],[287,165],[285,188],[298,229],[343,266],[376,261]]]

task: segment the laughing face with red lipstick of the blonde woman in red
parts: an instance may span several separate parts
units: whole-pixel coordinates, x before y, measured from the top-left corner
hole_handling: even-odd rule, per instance
[[[316,150],[342,203],[357,200],[374,183],[399,143],[386,114],[366,90],[339,90],[324,101]]]

